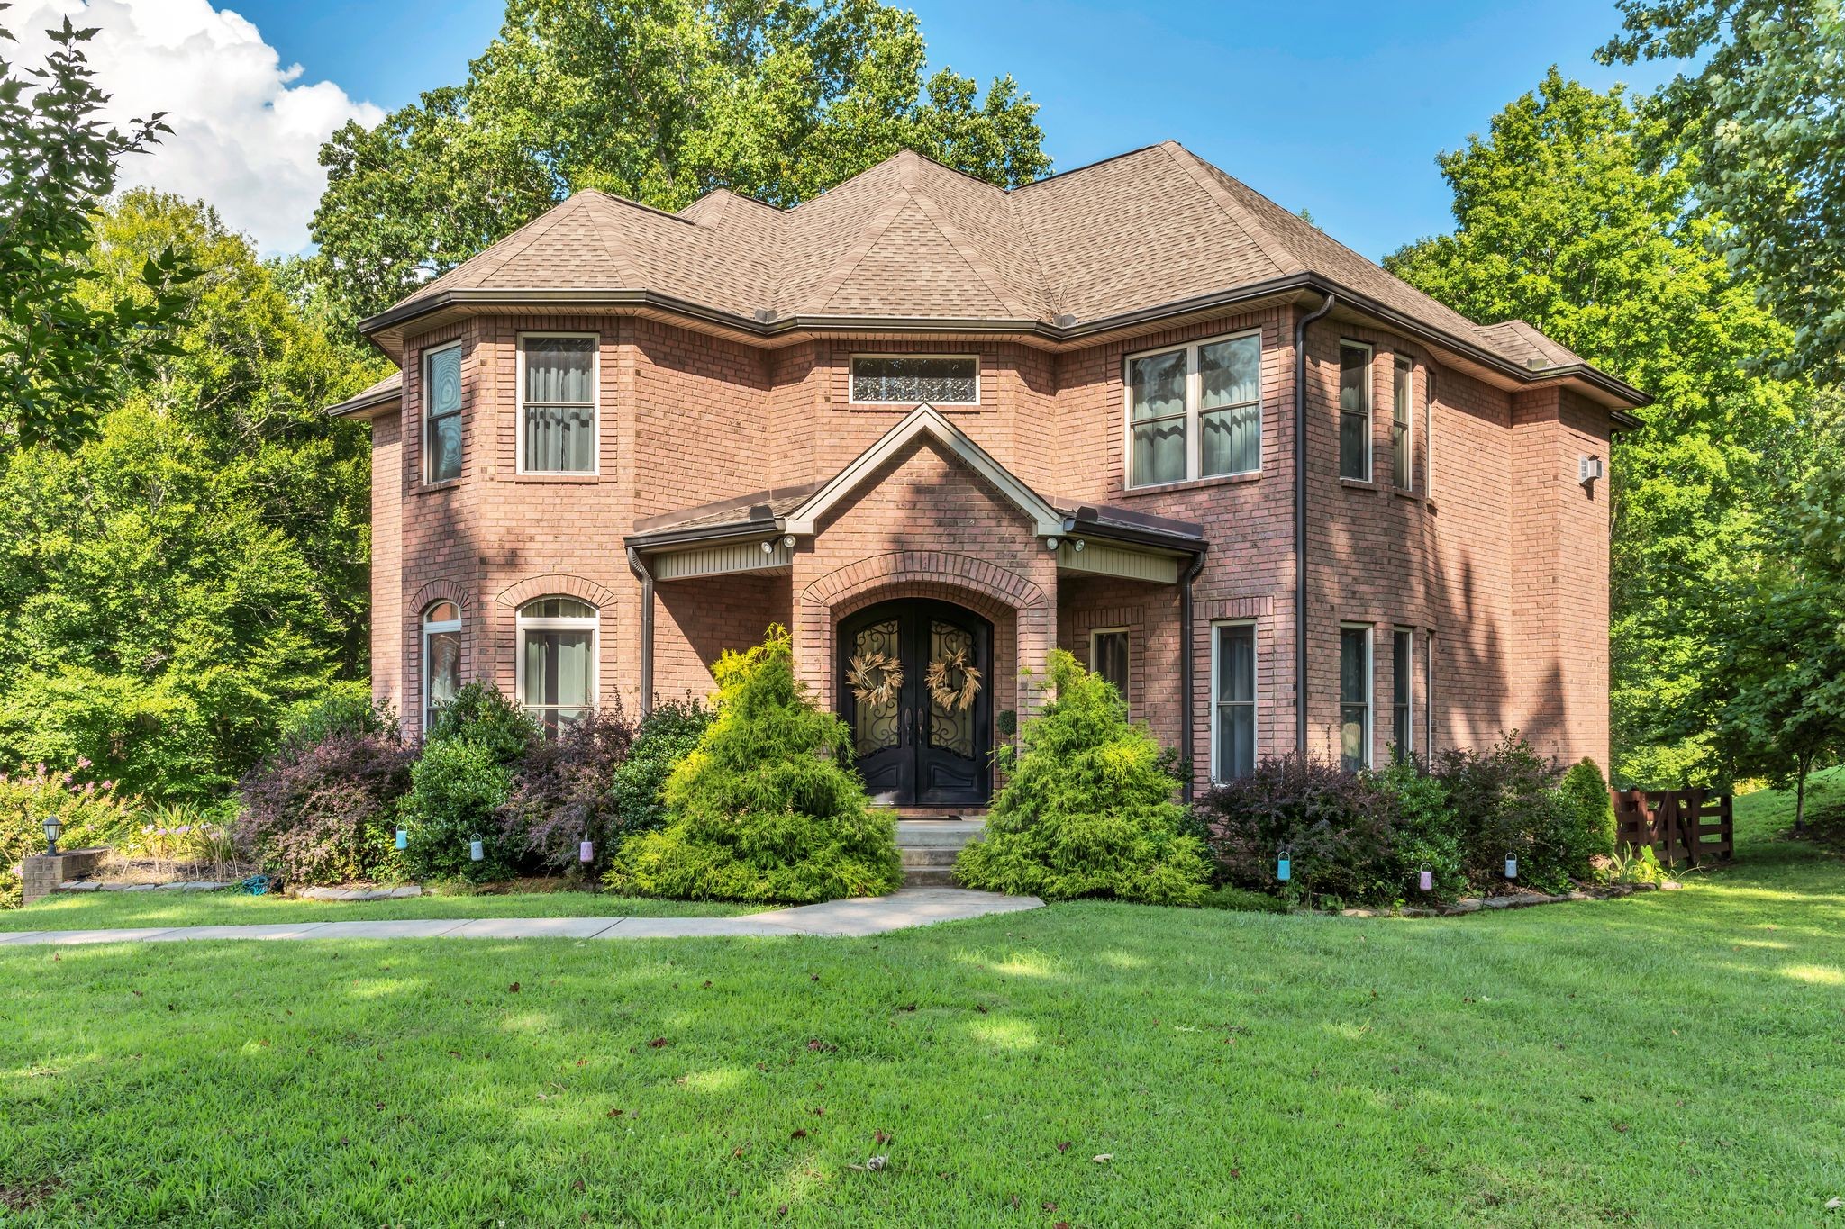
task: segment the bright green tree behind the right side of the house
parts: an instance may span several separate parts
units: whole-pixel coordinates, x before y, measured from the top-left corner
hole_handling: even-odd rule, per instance
[[[1439,158],[1456,230],[1391,273],[1482,321],[1526,319],[1657,400],[1613,450],[1618,778],[1683,785],[1708,730],[1679,720],[1720,652],[1721,593],[1762,560],[1779,475],[1808,464],[1814,396],[1749,374],[1790,334],[1690,214],[1692,160],[1649,170],[1657,122],[1552,70]]]

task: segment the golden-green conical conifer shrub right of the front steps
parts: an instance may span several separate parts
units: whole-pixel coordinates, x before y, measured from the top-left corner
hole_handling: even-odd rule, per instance
[[[1129,724],[1114,687],[1061,649],[1050,654],[1050,685],[1055,698],[1024,724],[1011,778],[956,877],[1053,901],[1199,903],[1210,866],[1183,831],[1172,757]]]

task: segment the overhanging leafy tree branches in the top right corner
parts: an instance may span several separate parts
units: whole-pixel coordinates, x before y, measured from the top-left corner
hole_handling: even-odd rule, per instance
[[[1777,363],[1845,380],[1845,13],[1838,0],[1616,0],[1596,59],[1701,59],[1653,98],[1708,238],[1793,330]]]

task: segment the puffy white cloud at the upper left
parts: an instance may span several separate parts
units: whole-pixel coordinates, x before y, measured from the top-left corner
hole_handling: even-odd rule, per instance
[[[151,155],[129,157],[122,182],[146,184],[218,206],[264,254],[297,252],[327,186],[319,147],[356,118],[384,111],[330,81],[301,83],[262,33],[207,0],[24,0],[0,13],[18,46],[6,59],[44,63],[44,29],[65,17],[100,33],[85,44],[98,87],[113,94],[107,116],[124,123],[166,111],[173,127]]]

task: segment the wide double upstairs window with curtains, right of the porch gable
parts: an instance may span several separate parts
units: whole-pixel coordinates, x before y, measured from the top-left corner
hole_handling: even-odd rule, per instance
[[[1129,357],[1127,429],[1129,486],[1258,472],[1262,335]]]

